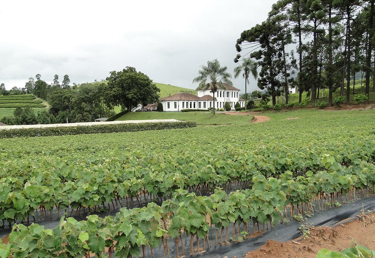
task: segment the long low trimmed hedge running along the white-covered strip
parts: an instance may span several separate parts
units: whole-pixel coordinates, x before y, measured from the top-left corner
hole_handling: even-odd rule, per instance
[[[1,138],[75,135],[81,133],[116,133],[195,127],[195,122],[123,123],[113,125],[59,126],[0,130]]]

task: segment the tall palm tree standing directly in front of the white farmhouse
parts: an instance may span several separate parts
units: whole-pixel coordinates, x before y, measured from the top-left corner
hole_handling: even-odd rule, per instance
[[[198,76],[193,79],[193,83],[199,83],[199,86],[196,90],[207,90],[211,87],[213,93],[213,114],[215,115],[215,92],[217,88],[226,90],[226,87],[223,83],[228,85],[233,85],[231,74],[226,70],[226,66],[221,67],[220,62],[217,59],[212,61],[207,61],[207,66],[201,65],[201,70],[198,72]]]

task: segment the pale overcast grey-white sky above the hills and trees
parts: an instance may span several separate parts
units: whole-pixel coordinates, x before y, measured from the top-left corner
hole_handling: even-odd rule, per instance
[[[154,82],[196,88],[192,79],[208,60],[233,74],[240,33],[264,21],[275,2],[4,1],[0,83],[23,87],[40,73],[78,84],[132,66]],[[248,91],[257,89],[250,80]],[[233,83],[245,90],[244,79]]]

